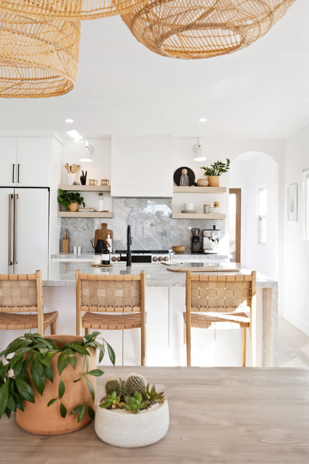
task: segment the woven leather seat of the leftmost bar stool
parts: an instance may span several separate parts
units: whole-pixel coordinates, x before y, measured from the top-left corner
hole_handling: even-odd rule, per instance
[[[55,322],[58,316],[58,311],[43,314],[44,328],[51,322]],[[0,329],[16,330],[16,329],[37,329],[38,315],[37,314],[15,314],[15,313],[0,313]]]

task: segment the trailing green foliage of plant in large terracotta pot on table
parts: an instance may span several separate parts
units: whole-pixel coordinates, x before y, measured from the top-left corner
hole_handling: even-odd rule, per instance
[[[73,382],[82,381],[85,396],[82,404],[76,405],[69,414],[77,414],[77,421],[80,422],[84,416],[86,408],[91,419],[95,418],[95,411],[86,400],[86,387],[88,387],[92,400],[95,399],[94,388],[88,375],[100,377],[104,374],[100,369],[88,370],[88,357],[91,348],[99,350],[99,362],[105,353],[105,344],[112,363],[115,363],[113,348],[104,340],[103,343],[96,341],[100,332],[84,335],[81,341],[69,343],[60,342],[57,339],[46,339],[39,334],[25,334],[13,342],[0,353],[0,418],[6,414],[10,418],[16,408],[24,410],[24,401],[35,403],[34,392],[31,387],[30,377],[27,367],[30,366],[32,382],[40,395],[43,395],[46,378],[53,382],[53,370],[50,360],[55,354],[60,356],[57,361],[60,383],[57,398],[51,398],[47,406],[59,401],[60,414],[63,418],[67,415],[67,408],[63,404],[62,397],[65,392],[65,385],[62,380],[63,370],[70,364],[74,369],[77,363],[77,356],[84,359],[82,376]],[[62,343],[60,348],[56,342]]]

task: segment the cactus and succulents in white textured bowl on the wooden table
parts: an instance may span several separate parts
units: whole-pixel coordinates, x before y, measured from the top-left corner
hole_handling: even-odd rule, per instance
[[[126,381],[110,377],[105,396],[95,408],[95,432],[109,445],[137,448],[163,438],[170,416],[164,392],[150,388],[142,375],[131,374]]]

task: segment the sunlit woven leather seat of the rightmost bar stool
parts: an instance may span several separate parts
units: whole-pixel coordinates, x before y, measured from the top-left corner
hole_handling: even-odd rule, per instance
[[[183,313],[183,322],[186,323],[186,313]],[[191,313],[191,327],[199,329],[239,329],[249,327],[249,322],[250,317],[245,313],[225,314],[222,317]]]

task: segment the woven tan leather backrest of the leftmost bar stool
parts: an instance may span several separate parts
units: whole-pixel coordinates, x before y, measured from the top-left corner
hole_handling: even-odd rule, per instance
[[[0,274],[0,312],[29,311],[38,311],[36,275]]]

